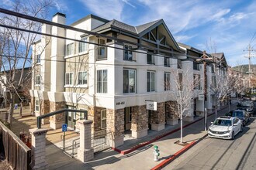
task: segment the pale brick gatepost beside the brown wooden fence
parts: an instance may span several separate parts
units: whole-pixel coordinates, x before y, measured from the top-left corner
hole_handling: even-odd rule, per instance
[[[32,168],[33,169],[48,169],[48,164],[46,162],[46,138],[47,129],[38,129],[33,128],[29,129],[29,133],[31,134],[32,141],[32,152],[33,152],[33,160],[32,160]]]

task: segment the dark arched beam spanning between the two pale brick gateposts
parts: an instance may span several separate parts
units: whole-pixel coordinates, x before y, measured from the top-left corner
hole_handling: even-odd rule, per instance
[[[42,119],[43,118],[46,118],[46,117],[50,117],[50,116],[54,116],[56,114],[65,114],[65,117],[67,115],[67,112],[81,112],[81,113],[84,113],[85,114],[85,119],[88,120],[88,114],[87,113],[87,110],[75,110],[75,109],[62,109],[62,110],[57,110],[57,111],[54,111],[54,112],[51,112],[49,114],[43,114],[43,115],[40,115],[39,117],[37,117],[37,128],[41,128],[41,124],[42,124]],[[65,123],[67,120],[65,120]]]

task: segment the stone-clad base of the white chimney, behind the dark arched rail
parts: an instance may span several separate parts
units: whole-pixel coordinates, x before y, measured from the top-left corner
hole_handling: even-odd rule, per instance
[[[64,109],[65,102],[51,102],[50,101],[50,112]],[[50,117],[50,128],[57,129],[61,128],[64,124],[64,114],[57,114]]]

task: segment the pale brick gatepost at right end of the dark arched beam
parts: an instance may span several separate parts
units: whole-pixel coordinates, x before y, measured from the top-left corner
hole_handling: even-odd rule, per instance
[[[78,159],[81,162],[88,162],[94,158],[93,149],[91,147],[91,128],[92,121],[79,120],[80,126],[80,147],[78,148]]]

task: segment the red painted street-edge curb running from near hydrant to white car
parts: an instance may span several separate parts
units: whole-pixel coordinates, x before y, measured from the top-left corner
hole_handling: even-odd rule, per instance
[[[201,141],[203,138],[205,138],[208,134],[204,135],[202,138],[200,138],[197,141],[192,141],[189,145],[186,145],[184,148],[182,148],[181,150],[177,151],[174,155],[171,155],[170,158],[165,159],[163,162],[161,162],[160,164],[156,165],[154,168],[151,168],[151,170],[159,170],[161,168],[164,168],[164,166],[168,165],[169,163],[173,162],[175,160],[175,158],[178,158],[180,155],[182,155],[183,153],[185,153],[185,151],[188,151],[190,148],[192,148],[194,145],[196,145],[197,143],[199,143],[199,141]]]

